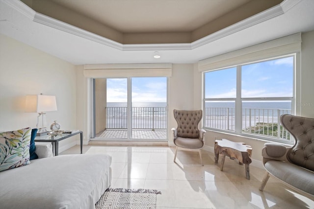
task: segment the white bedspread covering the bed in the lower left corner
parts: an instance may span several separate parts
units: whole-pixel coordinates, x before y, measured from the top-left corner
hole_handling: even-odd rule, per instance
[[[111,157],[61,155],[0,172],[1,209],[95,209],[110,186]]]

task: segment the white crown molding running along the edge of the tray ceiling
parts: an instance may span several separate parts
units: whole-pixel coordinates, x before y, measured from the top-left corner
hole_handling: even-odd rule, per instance
[[[274,17],[284,14],[286,11],[291,9],[295,4],[300,0],[284,0],[281,4],[274,6],[268,10],[265,10],[257,15],[254,15],[250,18],[247,18],[243,21],[235,23],[229,27],[226,27],[222,30],[219,30],[215,33],[212,33],[204,38],[201,38],[192,43],[183,43],[183,44],[121,44],[115,42],[111,39],[105,38],[103,36],[94,34],[92,32],[83,30],[76,26],[73,26],[68,23],[64,23],[48,17],[46,15],[35,12],[33,9],[29,8],[20,0],[3,0],[11,8],[17,10],[20,14],[25,15],[27,18],[32,19],[36,23],[41,23],[55,29],[74,34],[84,39],[91,40],[103,44],[105,46],[110,46],[122,51],[138,51],[138,50],[192,50],[204,45],[207,45],[211,42],[214,42],[223,37],[234,34],[238,31],[241,31],[245,28],[254,26],[258,23],[262,23]]]

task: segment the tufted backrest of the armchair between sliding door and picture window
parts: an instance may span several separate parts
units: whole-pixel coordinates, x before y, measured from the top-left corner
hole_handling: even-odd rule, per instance
[[[183,138],[199,138],[198,123],[203,117],[202,110],[173,110],[178,123],[177,136]]]

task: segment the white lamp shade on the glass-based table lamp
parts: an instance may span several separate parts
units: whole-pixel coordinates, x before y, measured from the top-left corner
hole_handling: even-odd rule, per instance
[[[26,95],[27,113],[42,113],[49,111],[56,111],[57,103],[55,96],[50,95]]]

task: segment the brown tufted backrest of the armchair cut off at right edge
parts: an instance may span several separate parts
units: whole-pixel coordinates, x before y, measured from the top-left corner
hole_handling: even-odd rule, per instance
[[[295,139],[287,153],[288,161],[314,171],[314,118],[285,114],[280,120]]]

